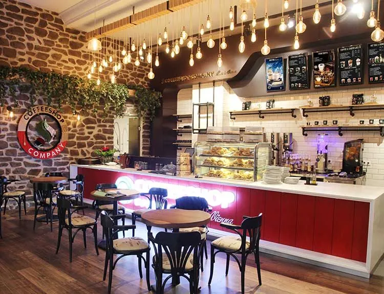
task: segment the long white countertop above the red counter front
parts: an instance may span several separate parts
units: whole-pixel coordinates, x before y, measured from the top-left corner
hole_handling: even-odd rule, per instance
[[[212,178],[212,177],[202,177],[195,178],[195,176],[172,176],[172,175],[163,175],[149,173],[147,170],[137,171],[133,168],[120,168],[119,165],[108,166],[108,165],[71,165],[73,167],[81,168],[91,168],[98,170],[109,170],[109,171],[118,171],[131,174],[147,175],[152,177],[160,178],[171,178],[171,179],[180,179],[190,182],[199,182],[207,184],[216,184],[216,185],[225,185],[232,187],[242,187],[242,188],[251,188],[259,189],[265,191],[276,191],[292,194],[301,194],[301,195],[310,195],[310,196],[319,196],[319,197],[330,197],[338,199],[348,199],[356,201],[365,201],[371,202],[378,197],[384,195],[384,188],[382,187],[373,187],[373,186],[360,186],[360,185],[347,185],[347,184],[338,184],[338,183],[322,183],[317,182],[317,186],[304,185],[304,180],[300,181],[297,185],[289,184],[279,184],[279,185],[269,185],[264,184],[263,181],[259,182],[243,182],[241,180],[230,180],[230,179],[221,179],[221,178]]]

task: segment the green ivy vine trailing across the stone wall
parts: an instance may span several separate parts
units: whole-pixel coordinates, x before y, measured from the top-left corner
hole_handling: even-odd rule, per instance
[[[138,116],[148,115],[151,120],[155,117],[155,111],[160,107],[161,93],[141,85],[112,84],[101,82],[96,84],[94,80],[83,79],[72,75],[58,73],[44,73],[33,71],[26,67],[0,66],[0,104],[3,106],[7,91],[15,106],[16,86],[20,93],[29,95],[31,106],[36,102],[36,96],[41,96],[47,105],[71,106],[76,112],[79,105],[82,110],[97,112],[99,105],[104,105],[104,114],[107,114],[112,106],[116,116],[125,114],[125,103],[132,99],[135,103]],[[129,90],[135,90],[134,97],[130,96]]]

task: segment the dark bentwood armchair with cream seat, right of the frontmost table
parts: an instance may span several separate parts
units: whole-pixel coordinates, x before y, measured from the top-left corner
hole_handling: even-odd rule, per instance
[[[259,285],[261,285],[261,272],[260,272],[260,256],[259,256],[259,242],[260,242],[260,228],[263,214],[259,216],[248,217],[243,216],[241,225],[234,225],[229,223],[220,223],[221,227],[232,230],[240,237],[225,236],[216,239],[211,243],[210,247],[210,275],[208,285],[212,282],[214,275],[215,255],[219,252],[227,255],[227,264],[225,268],[225,275],[228,275],[229,257],[232,256],[239,265],[241,271],[241,292],[244,294],[244,279],[245,279],[245,266],[249,254],[254,255],[254,260],[257,265]],[[243,232],[239,232],[242,230]],[[249,241],[247,241],[247,235]],[[215,252],[216,251],[216,252]],[[241,261],[235,254],[241,255]]]

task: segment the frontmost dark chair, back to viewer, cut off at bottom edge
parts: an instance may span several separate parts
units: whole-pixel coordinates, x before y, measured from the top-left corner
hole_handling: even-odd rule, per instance
[[[156,294],[164,293],[165,284],[170,278],[180,277],[188,280],[189,292],[197,294],[200,276],[200,233],[159,232],[156,238],[152,233],[148,233],[148,239],[155,249],[152,267],[156,276]],[[163,274],[169,275],[164,282]]]

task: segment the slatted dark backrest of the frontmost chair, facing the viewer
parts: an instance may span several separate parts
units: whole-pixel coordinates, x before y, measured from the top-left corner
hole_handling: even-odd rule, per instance
[[[201,242],[199,232],[159,232],[156,238],[150,237],[150,240],[155,244],[155,266],[159,267],[163,264],[162,255],[165,253],[169,260],[170,272],[173,274],[185,273],[185,266],[192,256],[194,269],[199,270],[199,245]]]

